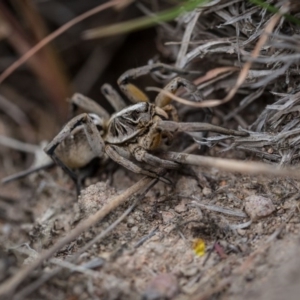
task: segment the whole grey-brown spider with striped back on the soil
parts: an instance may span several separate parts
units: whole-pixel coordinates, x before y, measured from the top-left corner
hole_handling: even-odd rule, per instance
[[[154,103],[138,87],[130,83],[141,75],[156,70],[175,70],[164,64],[131,69],[119,79],[118,85],[131,102],[136,104],[125,107],[120,96],[109,86],[104,85],[102,92],[113,102],[117,113],[109,114],[96,102],[82,95],[75,94],[71,102],[89,113],[82,113],[71,119],[58,135],[48,144],[45,152],[66,171],[74,180],[77,192],[80,190],[78,177],[74,169],[81,168],[93,158],[106,160],[108,157],[123,167],[150,177],[159,177],[157,169],[176,169],[177,162],[159,158],[158,150],[166,150],[176,132],[213,131],[227,135],[245,135],[244,132],[225,129],[208,123],[180,123],[176,109],[170,104],[171,98],[159,93]],[[185,88],[198,100],[199,95],[194,84],[181,77],[176,77],[164,90],[176,93]],[[140,167],[138,162],[147,165]],[[164,182],[165,178],[159,177]]]

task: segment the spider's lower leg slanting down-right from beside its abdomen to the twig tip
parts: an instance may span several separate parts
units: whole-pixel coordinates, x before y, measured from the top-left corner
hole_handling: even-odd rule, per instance
[[[143,169],[129,160],[130,154],[128,151],[125,151],[123,148],[115,146],[115,145],[106,145],[105,152],[107,155],[116,163],[123,166],[124,168],[138,174],[143,174],[149,177],[157,178],[164,183],[170,184],[170,181],[159,176],[155,172]]]

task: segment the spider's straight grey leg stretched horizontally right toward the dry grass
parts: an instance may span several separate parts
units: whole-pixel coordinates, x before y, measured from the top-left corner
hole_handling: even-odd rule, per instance
[[[209,123],[179,123],[173,121],[158,121],[156,128],[162,131],[169,132],[198,132],[198,131],[211,131],[215,133],[222,133],[233,136],[249,136],[248,132],[227,129],[224,127],[212,125]]]

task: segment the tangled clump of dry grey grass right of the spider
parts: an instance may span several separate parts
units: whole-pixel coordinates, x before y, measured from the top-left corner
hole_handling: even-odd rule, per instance
[[[236,101],[230,108],[222,107],[219,115],[223,123],[234,118],[250,137],[236,138],[226,149],[236,147],[268,162],[296,164],[300,7],[292,1],[269,3],[262,7],[250,1],[211,1],[178,18],[173,28],[163,27],[160,34],[169,40],[164,53],[172,54],[177,67],[206,72],[195,80],[204,100],[225,97],[212,105],[207,101],[207,106]],[[200,141],[207,142],[216,138]]]

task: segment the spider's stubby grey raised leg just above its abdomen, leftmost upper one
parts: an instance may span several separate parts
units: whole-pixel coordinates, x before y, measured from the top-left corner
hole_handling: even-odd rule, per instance
[[[73,106],[73,112],[76,111],[78,107],[82,108],[88,113],[94,113],[98,115],[100,118],[109,120],[109,113],[96,101],[82,95],[79,93],[75,93],[68,101]]]

